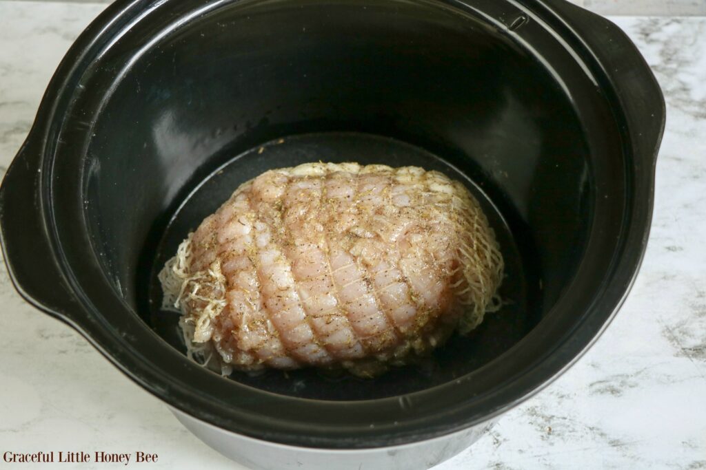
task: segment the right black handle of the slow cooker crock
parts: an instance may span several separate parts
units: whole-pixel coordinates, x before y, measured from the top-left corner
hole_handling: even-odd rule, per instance
[[[662,142],[666,106],[662,89],[645,58],[628,35],[610,20],[566,0],[542,1],[561,13],[566,19],[564,26],[575,33],[569,36],[576,44],[570,45],[591,51],[604,68],[625,110],[633,152],[638,159],[635,163],[652,168]],[[588,48],[580,42],[585,42]]]

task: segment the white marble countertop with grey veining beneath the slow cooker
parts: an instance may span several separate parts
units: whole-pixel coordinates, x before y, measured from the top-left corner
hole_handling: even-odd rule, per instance
[[[0,1],[1,171],[61,56],[102,8]],[[614,20],[654,68],[668,106],[642,271],[578,364],[438,470],[706,469],[706,18]],[[145,468],[241,468],[23,302],[0,266],[0,467],[36,468],[2,462],[6,451],[143,450],[159,455]]]

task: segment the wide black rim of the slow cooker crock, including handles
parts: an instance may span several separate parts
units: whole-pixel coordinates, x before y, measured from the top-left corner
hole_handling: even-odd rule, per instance
[[[83,32],[52,78],[30,135],[18,159],[13,162],[14,168],[8,170],[8,176],[11,173],[19,175],[22,170],[18,168],[17,160],[23,154],[37,156],[35,168],[42,169],[42,173],[39,177],[34,175],[37,187],[32,190],[38,194],[36,202],[39,206],[39,211],[35,209],[35,212],[38,212],[39,226],[46,231],[49,247],[46,254],[56,261],[59,278],[68,287],[72,299],[52,307],[51,302],[37,298],[32,290],[25,288],[27,282],[23,279],[21,268],[18,268],[17,261],[13,263],[13,249],[6,246],[6,241],[11,238],[9,216],[6,215],[8,211],[0,210],[4,255],[8,271],[20,294],[36,307],[78,330],[145,390],[196,419],[253,438],[332,449],[387,447],[454,433],[508,411],[568,369],[613,319],[633,284],[647,245],[652,215],[654,164],[664,130],[664,100],[654,76],[634,45],[612,23],[565,4],[563,0],[526,0],[522,7],[527,14],[561,36],[606,88],[606,94],[615,104],[614,113],[616,123],[622,129],[626,159],[632,165],[628,171],[631,194],[620,228],[620,240],[612,247],[610,254],[613,259],[611,267],[599,287],[592,292],[591,298],[583,299],[585,309],[576,312],[581,316],[580,321],[574,323],[572,330],[563,331],[561,340],[556,341],[551,350],[541,347],[542,328],[536,328],[512,350],[503,354],[503,357],[477,371],[489,374],[486,380],[495,384],[477,395],[467,393],[472,378],[465,377],[456,383],[409,394],[405,400],[391,397],[366,402],[323,402],[274,395],[215,376],[172,350],[136,316],[123,319],[126,324],[129,323],[129,328],[126,327],[128,334],[109,328],[109,322],[102,317],[105,315],[107,318],[107,311],[95,303],[94,295],[89,297],[86,294],[59,242],[52,209],[52,137],[56,135],[57,113],[65,105],[67,90],[85,67],[85,61],[94,53],[100,40],[106,35],[115,35],[116,31],[128,27],[141,12],[158,8],[162,3],[118,0],[108,6]],[[215,2],[214,5],[221,3]],[[437,0],[437,3],[455,8],[463,6],[462,2],[453,0]],[[604,37],[598,36],[599,33],[595,32],[598,25],[609,28],[609,33],[603,33]],[[622,41],[623,54],[638,61],[638,65],[642,66],[642,75],[627,82],[626,77],[617,71],[609,72],[611,61],[616,58],[607,57],[599,47],[601,42],[609,39]],[[650,95],[652,99],[646,101],[647,104],[640,104],[641,98]],[[640,109],[640,106],[645,109]],[[649,122],[645,122],[645,116],[642,116],[645,111],[653,111],[652,119],[647,119]],[[651,136],[648,139],[638,139],[638,133],[642,135],[645,129],[648,134],[651,132]],[[9,206],[5,200],[10,193],[9,183],[5,183],[0,202],[3,206]],[[585,256],[592,255],[590,249],[587,249]],[[90,252],[88,247],[86,252]],[[37,253],[36,256],[44,254]],[[581,273],[582,268],[578,271]],[[577,282],[575,280],[574,286]],[[104,289],[108,289],[107,283],[104,284]],[[568,295],[564,295],[554,306],[553,312],[572,311],[575,308],[575,299],[570,295],[571,286],[567,292]],[[105,302],[116,301],[119,302],[119,299],[115,293],[114,298],[105,299]],[[124,314],[125,307],[122,308],[119,314]],[[83,313],[75,314],[77,310]],[[117,319],[119,314],[116,313],[114,318]],[[546,328],[558,328],[561,326],[558,318],[558,315],[550,313],[542,323],[546,323]],[[143,341],[155,343],[156,357],[150,358],[150,361],[146,361],[145,356],[139,352],[140,342]],[[515,370],[521,372],[503,378],[503,371],[489,370],[489,366],[502,363],[510,355],[517,355],[519,348],[522,348],[525,357],[515,357]],[[532,352],[537,352],[537,355],[533,356]],[[473,378],[477,378],[477,373],[471,374]],[[196,384],[202,383],[208,384],[209,390],[219,390],[220,395],[213,397],[200,393]],[[232,397],[227,397],[229,392],[236,390],[241,400],[239,406],[234,406]],[[443,397],[439,402],[453,403],[453,406],[435,408],[434,402],[438,397]],[[268,412],[264,412],[263,408]],[[378,418],[371,419],[371,416]],[[400,420],[395,421],[395,417]]]

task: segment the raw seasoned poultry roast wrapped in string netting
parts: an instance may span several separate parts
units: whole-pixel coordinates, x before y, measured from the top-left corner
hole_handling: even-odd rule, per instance
[[[263,173],[205,218],[180,255],[160,275],[165,298],[184,314],[191,346],[210,346],[225,371],[374,376],[477,326],[498,306],[503,273],[493,231],[461,183],[357,163]]]

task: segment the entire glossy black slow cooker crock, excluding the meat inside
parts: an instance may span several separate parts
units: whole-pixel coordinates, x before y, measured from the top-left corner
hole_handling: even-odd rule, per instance
[[[644,252],[663,126],[633,44],[559,0],[117,1],[52,80],[0,228],[23,295],[172,406],[282,443],[405,443],[512,407],[597,337]],[[155,262],[239,183],[310,155],[465,180],[517,303],[431,369],[364,385],[186,360],[150,307]]]

